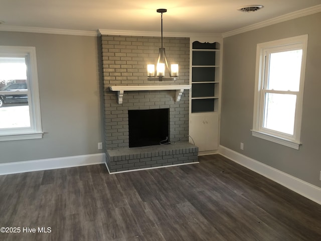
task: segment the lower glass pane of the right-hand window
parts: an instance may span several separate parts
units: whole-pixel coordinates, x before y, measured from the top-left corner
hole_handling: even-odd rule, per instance
[[[265,94],[263,127],[293,135],[296,95]]]

